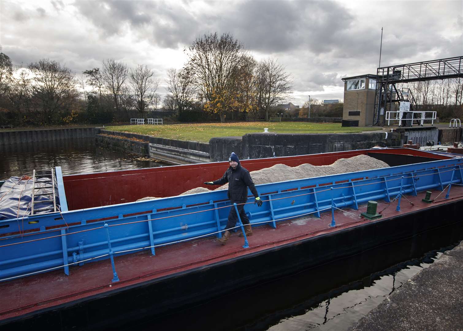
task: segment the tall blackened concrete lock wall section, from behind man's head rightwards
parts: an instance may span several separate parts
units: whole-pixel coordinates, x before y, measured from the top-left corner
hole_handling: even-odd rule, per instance
[[[368,149],[373,146],[400,146],[400,133],[249,133],[243,137],[212,138],[211,161],[224,161],[231,152],[242,159],[294,156],[343,150]]]

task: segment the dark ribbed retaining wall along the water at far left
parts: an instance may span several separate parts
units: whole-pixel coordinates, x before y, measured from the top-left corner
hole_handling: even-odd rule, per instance
[[[19,144],[72,138],[94,137],[98,128],[44,129],[0,132],[0,144]]]

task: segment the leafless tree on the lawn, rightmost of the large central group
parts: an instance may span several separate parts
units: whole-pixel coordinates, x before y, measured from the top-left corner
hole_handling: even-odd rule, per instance
[[[259,62],[257,75],[263,93],[262,106],[265,109],[265,120],[268,121],[270,107],[289,98],[293,81],[285,71],[285,67],[271,57]]]

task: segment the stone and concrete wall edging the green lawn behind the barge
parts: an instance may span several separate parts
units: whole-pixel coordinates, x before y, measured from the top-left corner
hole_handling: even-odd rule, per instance
[[[400,134],[395,132],[247,133],[242,137],[217,137],[201,143],[100,130],[95,138],[97,144],[173,164],[224,161],[232,152],[241,159],[254,159],[400,145]]]

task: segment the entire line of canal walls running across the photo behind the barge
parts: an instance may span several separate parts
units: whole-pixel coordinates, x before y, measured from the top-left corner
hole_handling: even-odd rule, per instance
[[[432,134],[431,134],[432,133]],[[63,128],[22,131],[0,131],[0,145],[58,141],[95,137],[104,148],[129,152],[162,160],[170,164],[218,162],[235,152],[241,159],[272,156],[296,156],[344,150],[369,149],[373,146],[397,147],[408,140],[424,145],[460,141],[460,128],[402,128],[396,132],[359,133],[248,133],[241,137],[213,137],[206,142],[176,140],[136,133],[108,131],[104,128]]]

